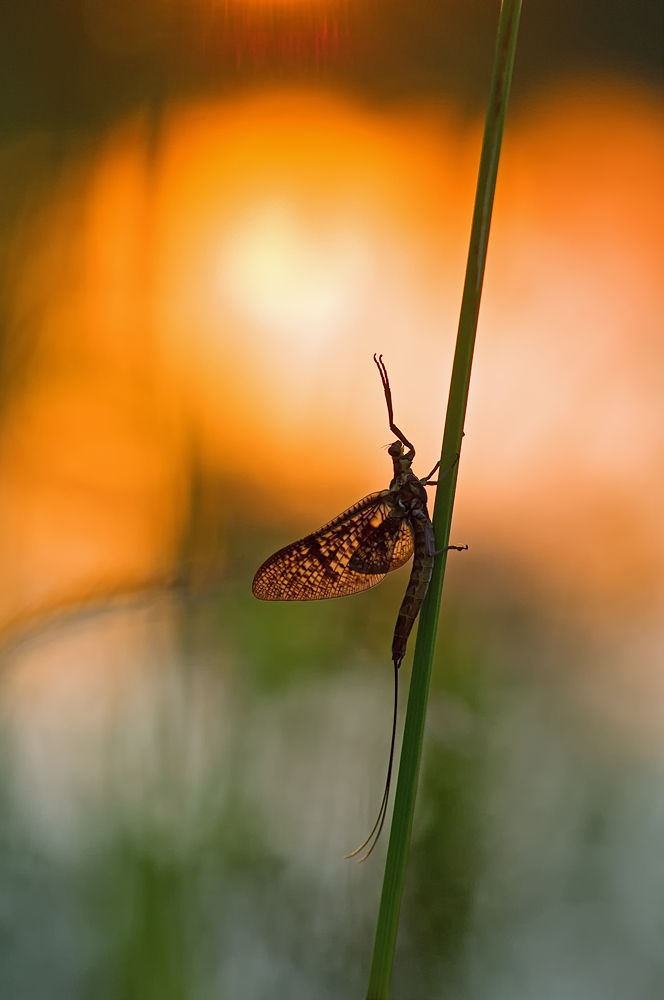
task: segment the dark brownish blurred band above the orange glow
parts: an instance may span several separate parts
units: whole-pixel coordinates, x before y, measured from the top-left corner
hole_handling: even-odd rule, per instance
[[[494,10],[494,8],[496,8]],[[271,9],[212,0],[4,0],[0,136],[94,128],[174,94],[298,80],[372,100],[485,97],[497,7],[364,0]],[[525,3],[515,98],[577,72],[661,84],[661,0]]]

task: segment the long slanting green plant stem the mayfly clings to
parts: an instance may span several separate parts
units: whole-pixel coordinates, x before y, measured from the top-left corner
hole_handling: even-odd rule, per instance
[[[493,76],[480,155],[468,263],[459,314],[459,328],[440,460],[440,468],[442,470],[449,468],[450,471],[440,480],[433,511],[436,545],[441,549],[449,544],[458,471],[457,457],[461,452],[498,160],[512,80],[520,16],[521,0],[503,0],[498,22]],[[389,997],[392,960],[415,811],[424,721],[446,561],[445,552],[441,552],[436,558],[433,576],[420,615],[401,748],[399,780],[394,798],[390,841],[385,862],[385,876],[366,1000],[388,1000]]]

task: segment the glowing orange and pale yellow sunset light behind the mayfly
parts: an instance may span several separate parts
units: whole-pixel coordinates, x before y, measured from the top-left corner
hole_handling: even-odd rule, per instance
[[[512,117],[459,477],[460,537],[600,603],[661,599],[663,122],[599,82]],[[264,91],[70,165],[15,247],[2,621],[166,575],[192,441],[311,528],[387,485],[376,350],[428,471],[479,138],[451,107]]]

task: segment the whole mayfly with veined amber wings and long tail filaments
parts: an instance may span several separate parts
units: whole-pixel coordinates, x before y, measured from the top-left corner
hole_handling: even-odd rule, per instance
[[[415,448],[394,423],[392,391],[383,355],[376,357],[374,354],[374,362],[383,383],[390,430],[397,438],[387,449],[394,465],[392,482],[388,489],[370,493],[318,531],[279,549],[260,567],[252,586],[254,597],[261,601],[318,601],[345,597],[375,587],[414,555],[392,640],[394,715],[383,800],[367,839],[346,855],[352,858],[369,845],[360,861],[371,854],[385,822],[394,761],[399,667],[431,580],[434,557],[438,554],[425,486],[436,485],[432,476],[440,462],[424,479],[418,479],[411,471]]]

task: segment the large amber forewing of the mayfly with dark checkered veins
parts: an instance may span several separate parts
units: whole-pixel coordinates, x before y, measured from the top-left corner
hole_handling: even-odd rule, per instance
[[[375,587],[388,569],[396,567],[381,564],[380,569],[358,572],[349,564],[377,528],[394,520],[386,501],[388,493],[369,494],[318,531],[275,552],[254,577],[254,597],[262,601],[317,601]],[[395,533],[395,544],[399,537]]]

